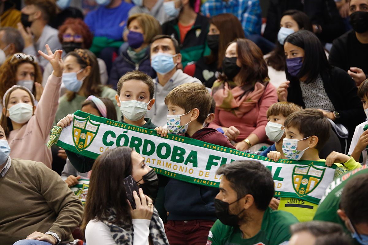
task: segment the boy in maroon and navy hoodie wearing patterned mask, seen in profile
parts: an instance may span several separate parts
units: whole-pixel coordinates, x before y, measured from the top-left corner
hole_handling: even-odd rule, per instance
[[[202,84],[177,86],[166,96],[165,104],[169,109],[169,133],[184,134],[189,138],[235,149],[222,133],[203,127],[212,97]],[[169,180],[165,187],[165,209],[169,212],[165,230],[170,244],[206,244],[209,230],[216,220],[214,200],[218,192],[215,187]]]

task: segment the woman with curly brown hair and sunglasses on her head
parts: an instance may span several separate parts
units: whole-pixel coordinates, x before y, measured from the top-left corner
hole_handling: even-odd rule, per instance
[[[0,66],[0,100],[12,86],[21,85],[29,89],[35,100],[39,101],[43,91],[41,82],[41,69],[35,58],[31,55],[16,53],[8,57]]]

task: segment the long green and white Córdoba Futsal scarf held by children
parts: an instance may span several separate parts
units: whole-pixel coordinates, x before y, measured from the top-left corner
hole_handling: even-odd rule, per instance
[[[145,129],[77,111],[72,124],[61,131],[54,127],[48,146],[56,143],[68,151],[97,158],[119,147],[133,148],[156,173],[189,183],[219,187],[216,170],[236,160],[256,160],[265,165],[275,181],[275,196],[300,198],[318,204],[332,182],[336,165],[325,162],[272,160],[259,155],[168,134],[159,136]]]

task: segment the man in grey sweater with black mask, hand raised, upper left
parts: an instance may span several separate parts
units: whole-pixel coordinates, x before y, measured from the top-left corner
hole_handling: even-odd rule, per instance
[[[42,67],[45,67],[48,61],[36,50],[47,53],[46,44],[49,44],[52,52],[61,49],[57,36],[58,30],[47,25],[50,18],[56,15],[55,2],[54,0],[25,0],[26,6],[21,10],[22,23],[18,23],[18,30],[25,44],[23,53],[35,56]]]

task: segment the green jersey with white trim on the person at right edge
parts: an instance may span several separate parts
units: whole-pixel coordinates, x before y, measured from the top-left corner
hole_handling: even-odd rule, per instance
[[[350,234],[350,231],[347,230],[344,221],[342,221],[340,216],[337,215],[337,209],[340,208],[340,198],[346,183],[351,180],[353,176],[366,173],[368,173],[368,167],[367,165],[364,165],[361,168],[347,172],[346,174],[332,181],[332,183],[327,187],[325,195],[319,202],[319,206],[313,220],[330,221],[341,224],[344,228],[344,231]]]

